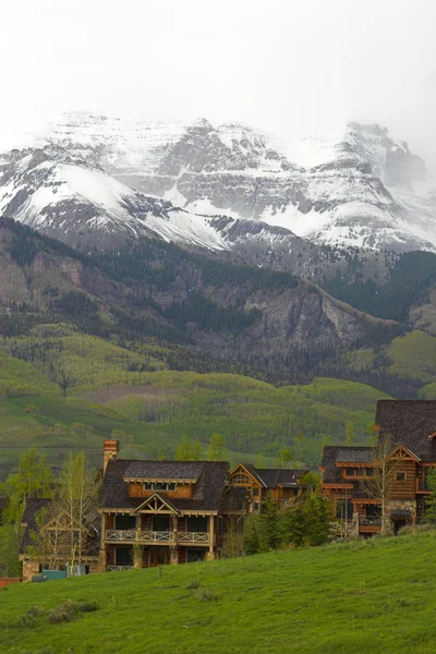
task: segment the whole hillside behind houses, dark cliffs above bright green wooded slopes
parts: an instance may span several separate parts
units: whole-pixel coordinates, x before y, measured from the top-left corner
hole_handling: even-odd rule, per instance
[[[174,457],[184,435],[207,456],[220,434],[232,462],[290,448],[316,468],[324,445],[373,437],[378,398],[436,395],[434,337],[288,272],[158,241],[77,253],[12,220],[0,334],[0,474],[33,445],[97,462],[113,429],[132,457]]]

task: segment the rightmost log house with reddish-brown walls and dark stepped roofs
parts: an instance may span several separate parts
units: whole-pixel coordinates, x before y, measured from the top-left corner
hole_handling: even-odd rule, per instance
[[[424,517],[426,473],[436,468],[436,401],[379,400],[376,447],[324,448],[323,488],[342,535],[397,533]],[[387,483],[380,479],[384,467]]]

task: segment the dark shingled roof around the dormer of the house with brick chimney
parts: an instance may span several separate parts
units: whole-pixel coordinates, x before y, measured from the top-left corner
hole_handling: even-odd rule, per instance
[[[132,464],[140,465],[132,465]],[[173,476],[156,477],[155,473],[158,470],[156,464],[165,464],[160,467],[160,471],[171,471]],[[141,467],[142,465],[142,467]],[[178,474],[177,468],[180,467]],[[171,504],[178,511],[182,512],[218,512],[223,491],[229,464],[226,461],[131,461],[123,459],[112,459],[109,461],[106,469],[106,474],[102,483],[102,501],[101,509],[136,509],[144,502],[144,497],[129,497],[129,484],[126,479],[194,479],[186,475],[197,474],[192,491],[192,497],[171,497]],[[148,471],[152,476],[134,475],[131,477],[131,472]],[[175,476],[178,474],[178,476]],[[159,493],[156,493],[159,495]],[[165,497],[162,495],[162,497]]]

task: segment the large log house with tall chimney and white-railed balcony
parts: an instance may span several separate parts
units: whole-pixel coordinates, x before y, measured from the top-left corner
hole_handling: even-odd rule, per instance
[[[124,460],[118,441],[105,441],[101,571],[241,553],[245,512],[227,462]]]

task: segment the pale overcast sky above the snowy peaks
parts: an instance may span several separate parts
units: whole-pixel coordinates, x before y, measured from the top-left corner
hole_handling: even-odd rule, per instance
[[[0,0],[0,126],[92,110],[289,140],[380,122],[436,168],[434,0]]]

